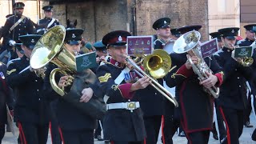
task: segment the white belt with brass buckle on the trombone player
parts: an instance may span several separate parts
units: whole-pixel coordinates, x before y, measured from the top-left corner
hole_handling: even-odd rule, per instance
[[[106,105],[106,110],[113,109],[125,109],[125,110],[135,110],[138,109],[139,102],[119,102],[119,103],[110,103]]]

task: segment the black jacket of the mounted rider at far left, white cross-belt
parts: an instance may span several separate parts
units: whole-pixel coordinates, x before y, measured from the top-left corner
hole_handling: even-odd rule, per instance
[[[13,26],[14,23],[18,22],[20,18],[22,18],[22,16],[12,15],[6,19],[6,23],[2,29],[4,45],[8,46],[10,40],[14,40],[16,43],[18,43],[20,42],[18,39],[19,36],[34,33],[34,25],[31,22],[30,18],[24,18],[22,22],[20,22],[18,26],[14,28],[14,30],[10,31],[11,26]]]

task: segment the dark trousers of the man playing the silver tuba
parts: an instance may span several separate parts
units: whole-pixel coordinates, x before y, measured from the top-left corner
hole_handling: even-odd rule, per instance
[[[188,144],[207,144],[209,142],[210,130],[186,133]]]

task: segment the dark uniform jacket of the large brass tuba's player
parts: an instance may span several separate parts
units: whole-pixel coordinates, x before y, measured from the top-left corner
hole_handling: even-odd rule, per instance
[[[94,130],[96,126],[96,119],[82,113],[70,102],[66,102],[60,95],[58,95],[50,86],[50,72],[57,68],[53,63],[49,63],[46,69],[46,78],[44,84],[44,94],[50,100],[58,99],[56,104],[55,114],[58,119],[58,124],[62,130]],[[58,83],[62,74],[57,73],[55,81]],[[94,90],[94,89],[93,89]],[[94,90],[96,91],[96,90]],[[81,91],[82,92],[82,91]]]

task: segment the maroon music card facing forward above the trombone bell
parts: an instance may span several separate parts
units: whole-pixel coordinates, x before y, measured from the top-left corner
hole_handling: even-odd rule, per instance
[[[128,36],[126,54],[139,57],[144,54],[152,54],[153,36]]]

